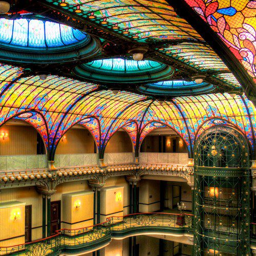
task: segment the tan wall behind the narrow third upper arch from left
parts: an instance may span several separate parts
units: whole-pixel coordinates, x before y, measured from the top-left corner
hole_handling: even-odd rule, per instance
[[[132,141],[126,132],[116,132],[106,145],[105,153],[133,152]]]

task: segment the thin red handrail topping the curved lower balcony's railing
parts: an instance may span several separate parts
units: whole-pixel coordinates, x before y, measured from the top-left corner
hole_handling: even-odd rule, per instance
[[[48,241],[52,238],[57,238],[59,237],[60,235],[63,235],[65,234],[65,231],[69,231],[70,233],[72,231],[75,231],[75,230],[86,230],[86,232],[83,232],[83,233],[87,233],[87,232],[90,232],[90,231],[93,231],[93,229],[95,227],[98,227],[98,226],[102,226],[102,225],[105,225],[105,224],[108,224],[106,225],[105,227],[106,228],[111,228],[111,224],[113,224],[113,222],[111,222],[114,218],[122,218],[122,219],[125,219],[125,218],[129,218],[129,217],[133,217],[133,216],[141,216],[141,215],[160,215],[160,216],[194,216],[193,214],[176,214],[176,213],[171,213],[171,212],[143,212],[143,213],[137,213],[137,214],[130,214],[130,215],[125,215],[125,216],[111,216],[109,218],[107,218],[106,221],[104,222],[101,222],[99,224],[95,224],[95,225],[92,225],[92,226],[88,226],[88,227],[81,227],[81,228],[75,228],[75,229],[67,229],[67,228],[62,228],[62,229],[59,229],[59,230],[56,230],[56,234],[53,234],[52,236],[49,236],[49,237],[46,237],[46,238],[43,238],[43,239],[39,239],[39,240],[35,240],[35,241],[32,241],[32,242],[28,242],[28,243],[23,243],[23,244],[17,244],[17,245],[13,245],[13,246],[0,246],[0,253],[3,251],[2,248],[5,248],[7,250],[7,248],[10,248],[10,250],[12,250],[13,248],[17,248],[17,247],[20,247],[22,246],[22,248],[26,248],[26,246],[28,245],[32,245],[32,244],[36,244],[36,243],[39,243],[39,242],[45,242],[45,241]],[[150,226],[150,225],[149,225]],[[181,227],[181,226],[180,226]],[[80,235],[80,234],[79,234]],[[72,238],[76,237],[77,234],[75,234],[75,236],[73,236]]]

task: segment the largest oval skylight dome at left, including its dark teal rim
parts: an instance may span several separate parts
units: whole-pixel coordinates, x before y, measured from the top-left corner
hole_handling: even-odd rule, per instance
[[[91,58],[98,43],[87,33],[33,13],[0,18],[0,61],[61,63]]]

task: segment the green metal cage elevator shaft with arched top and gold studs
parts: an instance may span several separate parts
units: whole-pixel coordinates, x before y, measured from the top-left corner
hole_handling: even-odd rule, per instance
[[[195,144],[194,255],[250,255],[250,148],[231,127]]]

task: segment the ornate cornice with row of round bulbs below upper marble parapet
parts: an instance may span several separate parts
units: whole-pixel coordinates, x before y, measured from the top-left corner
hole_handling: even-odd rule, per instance
[[[121,175],[173,175],[194,185],[194,168],[183,164],[120,163],[100,167],[99,165],[61,167],[56,169],[25,169],[0,172],[0,188],[41,186],[49,182],[54,186],[75,180],[107,179]]]

